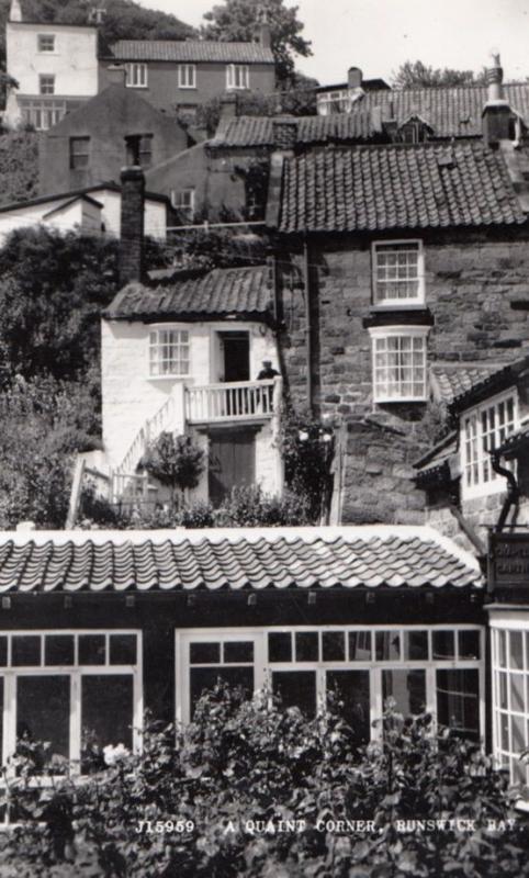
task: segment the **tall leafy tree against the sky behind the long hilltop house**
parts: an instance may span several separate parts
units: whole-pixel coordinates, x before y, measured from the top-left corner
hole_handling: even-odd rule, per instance
[[[285,7],[283,0],[224,0],[204,15],[207,24],[201,29],[206,40],[243,41],[256,38],[258,12],[268,18],[272,36],[278,82],[284,86],[294,71],[294,55],[312,55],[311,43],[301,33],[304,25],[297,19],[297,7]]]

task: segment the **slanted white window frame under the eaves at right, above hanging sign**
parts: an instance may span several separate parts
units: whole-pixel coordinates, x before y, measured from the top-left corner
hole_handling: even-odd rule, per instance
[[[519,397],[518,397],[518,390],[516,385],[513,385],[506,391],[502,391],[500,393],[495,394],[494,396],[489,396],[487,399],[479,403],[477,405],[472,406],[471,408],[465,409],[460,415],[460,430],[459,430],[459,443],[460,443],[460,457],[461,457],[461,498],[463,500],[473,499],[474,497],[484,497],[489,494],[499,494],[507,489],[505,479],[497,473],[494,473],[491,464],[491,457],[483,448],[483,431],[481,429],[482,426],[482,417],[485,412],[491,410],[494,408],[497,412],[497,406],[500,403],[505,403],[513,398],[514,402],[514,415],[513,421],[508,421],[511,424],[511,429],[509,429],[503,438],[499,438],[498,444],[505,441],[505,438],[514,432],[520,423],[520,414],[519,414]],[[480,427],[475,437],[470,437],[466,432],[466,425],[475,418],[475,424]],[[495,415],[495,421],[497,420],[497,414]],[[500,427],[495,427],[494,432],[497,436]],[[472,447],[472,442],[475,439],[476,441],[476,455],[475,458],[472,453],[469,455],[469,447]],[[491,479],[485,480],[483,477],[483,464],[488,461],[488,469],[491,472]],[[472,473],[473,466],[477,465],[477,481],[472,480],[471,483],[468,483],[466,475],[469,472]],[[515,464],[508,464],[515,465]]]

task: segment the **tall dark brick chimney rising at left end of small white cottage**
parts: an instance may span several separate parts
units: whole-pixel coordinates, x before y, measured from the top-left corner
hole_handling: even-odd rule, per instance
[[[132,165],[121,172],[120,284],[143,279],[145,177]]]

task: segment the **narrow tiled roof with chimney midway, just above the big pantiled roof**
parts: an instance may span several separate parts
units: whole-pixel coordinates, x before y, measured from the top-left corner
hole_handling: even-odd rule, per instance
[[[221,122],[210,146],[273,146],[273,123],[296,122],[299,144],[369,140],[382,131],[371,113],[336,113],[329,116],[237,116]]]

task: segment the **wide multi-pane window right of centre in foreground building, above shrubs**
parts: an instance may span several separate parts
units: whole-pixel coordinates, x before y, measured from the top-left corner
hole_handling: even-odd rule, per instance
[[[483,643],[475,626],[328,627],[177,633],[178,712],[224,680],[248,695],[269,685],[284,707],[314,716],[335,693],[358,744],[380,736],[386,699],[436,714],[462,736],[483,734]]]

